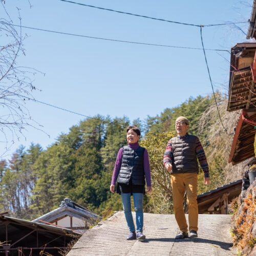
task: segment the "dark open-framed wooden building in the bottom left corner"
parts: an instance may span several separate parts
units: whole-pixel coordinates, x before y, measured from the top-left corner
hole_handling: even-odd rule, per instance
[[[5,256],[60,255],[81,233],[67,228],[0,214],[0,254]],[[41,253],[41,254],[40,254]]]

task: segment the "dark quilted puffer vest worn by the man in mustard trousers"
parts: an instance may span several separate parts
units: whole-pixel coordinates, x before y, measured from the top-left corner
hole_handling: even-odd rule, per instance
[[[198,173],[197,136],[187,134],[184,137],[176,136],[170,140],[173,146],[172,173]]]

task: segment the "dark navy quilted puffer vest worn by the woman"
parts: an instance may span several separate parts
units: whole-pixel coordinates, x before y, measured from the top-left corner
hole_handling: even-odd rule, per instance
[[[144,175],[144,147],[133,150],[129,146],[123,147],[123,157],[117,183],[128,185],[132,178],[133,185],[145,185]]]

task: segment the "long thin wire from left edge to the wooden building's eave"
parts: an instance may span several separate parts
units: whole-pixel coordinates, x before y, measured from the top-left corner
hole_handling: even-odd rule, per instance
[[[8,24],[6,22],[0,22],[0,23]],[[57,34],[63,34],[63,35],[86,37],[86,38],[106,40],[106,41],[125,42],[127,44],[137,44],[137,45],[146,45],[146,46],[158,46],[158,47],[167,47],[167,48],[180,48],[180,49],[190,49],[190,50],[203,50],[202,48],[196,48],[196,47],[170,46],[170,45],[151,44],[151,43],[147,43],[147,42],[125,41],[125,40],[119,40],[119,39],[111,39],[111,38],[104,38],[104,37],[95,37],[95,36],[88,36],[88,35],[72,34],[72,33],[59,32],[59,31],[47,30],[47,29],[39,29],[39,28],[20,26],[20,25],[15,25],[15,24],[10,24],[10,25],[11,26],[15,26],[15,27],[39,30],[39,31],[50,32],[50,33],[57,33]],[[207,50],[207,51],[220,51],[220,52],[228,52],[229,53],[228,50],[222,50],[222,49],[205,49],[205,50]]]

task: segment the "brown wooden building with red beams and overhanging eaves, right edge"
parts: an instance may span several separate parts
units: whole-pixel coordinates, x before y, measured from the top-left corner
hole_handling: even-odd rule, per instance
[[[238,164],[254,156],[256,132],[256,42],[231,48],[227,111],[241,111],[228,162]]]

